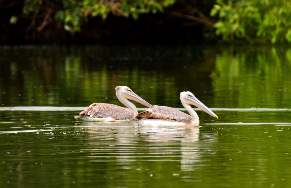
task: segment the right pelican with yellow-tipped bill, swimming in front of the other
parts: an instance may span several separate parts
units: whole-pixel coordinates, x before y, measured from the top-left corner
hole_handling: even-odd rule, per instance
[[[190,91],[180,93],[180,100],[190,115],[170,107],[150,106],[150,109],[136,114],[134,118],[129,120],[144,127],[195,127],[199,125],[199,117],[190,105],[194,105],[218,119],[217,115]]]

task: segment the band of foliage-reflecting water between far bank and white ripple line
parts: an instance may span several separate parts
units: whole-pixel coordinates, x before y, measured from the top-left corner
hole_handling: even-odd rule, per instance
[[[118,85],[170,107],[182,107],[181,91],[208,107],[291,105],[291,49],[285,47],[36,48],[0,48],[0,105],[122,105]]]

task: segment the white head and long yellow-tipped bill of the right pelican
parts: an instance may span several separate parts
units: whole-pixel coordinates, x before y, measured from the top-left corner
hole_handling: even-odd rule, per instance
[[[197,108],[200,108],[201,110],[208,113],[210,116],[216,117],[218,119],[218,116],[215,115],[215,113],[210,110],[207,106],[205,106],[200,100],[198,100],[193,93],[190,91],[183,91],[180,93],[180,100],[181,102],[184,101],[186,105],[194,105]]]

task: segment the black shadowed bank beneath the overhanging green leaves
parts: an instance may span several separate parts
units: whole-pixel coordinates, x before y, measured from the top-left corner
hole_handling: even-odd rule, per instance
[[[192,3],[209,15],[214,1]],[[181,44],[205,40],[203,24],[171,13],[183,12],[185,11],[183,9],[191,11],[192,5],[181,1],[176,2],[171,8],[166,8],[164,13],[141,14],[137,20],[131,16],[116,16],[112,13],[109,13],[105,19],[101,16],[89,16],[87,22],[82,24],[81,31],[74,33],[66,31],[63,25],[56,21],[49,22],[40,30],[45,9],[40,10],[34,26],[31,26],[33,14],[22,13],[23,1],[4,1],[0,8],[0,42],[3,44],[151,44],[153,42]],[[18,15],[17,24],[10,24],[10,18],[14,15]]]

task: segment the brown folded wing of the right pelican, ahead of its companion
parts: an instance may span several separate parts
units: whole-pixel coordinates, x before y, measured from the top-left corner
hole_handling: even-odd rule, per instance
[[[188,114],[164,106],[150,106],[150,109],[136,114],[134,119],[141,119],[144,117],[159,118],[163,120],[175,120],[185,123],[189,123],[192,120],[191,116],[189,116]]]

